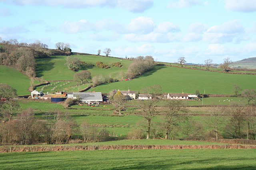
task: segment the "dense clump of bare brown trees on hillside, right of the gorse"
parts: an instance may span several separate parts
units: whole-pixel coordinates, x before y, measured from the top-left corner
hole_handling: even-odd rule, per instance
[[[130,64],[127,70],[127,77],[134,78],[140,76],[141,74],[152,70],[154,65],[155,61],[152,56],[138,56],[133,60],[132,64]]]

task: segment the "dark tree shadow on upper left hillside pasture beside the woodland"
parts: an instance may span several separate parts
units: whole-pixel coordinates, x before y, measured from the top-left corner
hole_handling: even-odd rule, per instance
[[[47,59],[36,59],[36,76],[37,77],[42,77],[44,76],[43,72],[44,71],[50,71],[54,67],[54,63],[51,62],[51,58]]]

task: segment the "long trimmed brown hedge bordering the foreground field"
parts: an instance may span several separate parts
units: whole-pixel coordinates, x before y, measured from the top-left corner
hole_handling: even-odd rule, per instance
[[[135,150],[135,149],[256,149],[252,145],[52,145],[4,146],[0,152],[42,152],[65,150]]]

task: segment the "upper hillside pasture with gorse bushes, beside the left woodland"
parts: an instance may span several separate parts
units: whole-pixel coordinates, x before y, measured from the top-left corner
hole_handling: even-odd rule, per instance
[[[96,55],[72,55],[72,57],[78,57],[81,61],[86,62],[86,70],[92,73],[92,77],[95,75],[111,75],[112,78],[118,77],[120,72],[126,72],[132,61],[122,60],[111,57],[103,57]],[[36,76],[43,76],[44,80],[73,80],[73,76],[76,72],[69,70],[65,66],[66,56],[52,56],[48,59],[36,59]],[[96,66],[96,62],[101,61],[104,64],[108,64],[110,68],[99,68]],[[115,62],[120,62],[123,66],[118,68],[111,66]],[[94,64],[95,66],[89,66]]]

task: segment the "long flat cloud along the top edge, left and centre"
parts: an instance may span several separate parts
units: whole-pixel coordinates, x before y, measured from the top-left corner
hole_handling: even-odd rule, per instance
[[[8,0],[2,0],[8,2]],[[64,6],[66,8],[88,8],[110,6],[130,12],[144,12],[153,6],[153,0],[12,0],[18,5]]]

